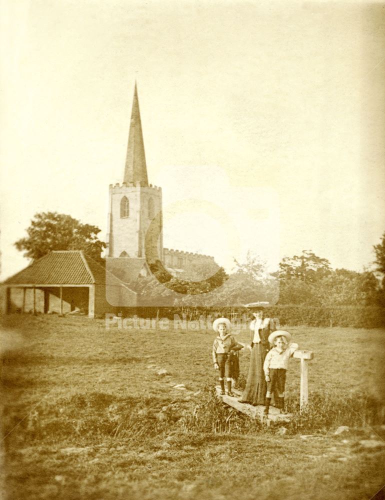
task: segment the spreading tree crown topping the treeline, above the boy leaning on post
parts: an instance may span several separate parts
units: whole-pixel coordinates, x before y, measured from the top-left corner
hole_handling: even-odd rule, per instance
[[[305,283],[314,283],[331,271],[326,258],[317,257],[311,250],[302,250],[301,255],[284,257],[279,263],[280,279],[299,279]]]

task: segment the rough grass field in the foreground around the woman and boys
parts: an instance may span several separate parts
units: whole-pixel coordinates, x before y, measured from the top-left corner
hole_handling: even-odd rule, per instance
[[[2,322],[9,500],[369,500],[385,483],[385,330],[289,328],[314,359],[302,415],[290,361],[295,418],[280,435],[214,397],[211,331],[106,330],[54,315]],[[242,381],[248,353],[240,362]],[[350,432],[333,435],[338,425]]]

